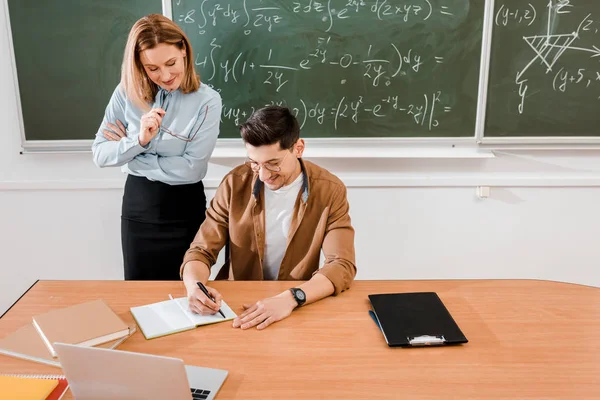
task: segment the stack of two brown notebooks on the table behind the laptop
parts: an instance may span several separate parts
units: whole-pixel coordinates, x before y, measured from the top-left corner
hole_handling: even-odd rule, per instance
[[[60,367],[55,342],[115,348],[135,332],[103,300],[36,315],[0,339],[0,354]]]

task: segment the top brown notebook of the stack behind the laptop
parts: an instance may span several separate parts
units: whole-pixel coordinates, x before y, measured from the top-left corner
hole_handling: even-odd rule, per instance
[[[53,357],[55,342],[95,346],[129,334],[127,324],[103,300],[36,315],[33,326]]]

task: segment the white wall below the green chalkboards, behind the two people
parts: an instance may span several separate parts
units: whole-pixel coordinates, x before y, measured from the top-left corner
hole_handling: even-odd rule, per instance
[[[123,177],[96,168],[90,154],[19,154],[10,59],[2,8],[0,313],[36,279],[123,276]],[[68,121],[65,127],[76,129]],[[535,278],[600,286],[599,156],[318,162],[349,186],[359,279]],[[211,164],[209,197],[239,161]],[[491,186],[491,197],[477,198],[477,185]]]

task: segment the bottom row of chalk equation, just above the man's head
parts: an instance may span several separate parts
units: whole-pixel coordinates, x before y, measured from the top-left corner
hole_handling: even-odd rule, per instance
[[[414,124],[431,131],[439,126],[439,115],[452,111],[452,107],[443,105],[442,97],[443,93],[436,91],[423,94],[421,100],[413,102],[406,102],[400,96],[390,95],[376,102],[369,102],[363,96],[356,98],[341,97],[334,107],[319,103],[308,105],[303,99],[298,100],[299,104],[290,104],[285,100],[281,100],[264,104],[264,106],[280,105],[290,107],[298,119],[300,129],[307,123],[314,122],[318,125],[330,123],[332,128],[337,131],[344,121],[359,124],[365,117],[389,118],[393,121],[399,121],[400,118],[405,117]],[[232,108],[225,103],[223,105],[223,119],[231,121],[237,126],[243,123],[254,111],[254,107],[248,107],[247,109]]]

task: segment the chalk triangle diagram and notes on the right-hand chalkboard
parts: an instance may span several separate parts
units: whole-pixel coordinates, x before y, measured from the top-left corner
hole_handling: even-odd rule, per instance
[[[532,94],[529,87],[529,75],[533,66],[542,65],[545,73],[551,77],[549,85],[557,93],[566,93],[573,87],[584,87],[590,90],[600,89],[600,64],[585,68],[568,68],[561,65],[561,58],[573,52],[587,53],[591,60],[600,61],[600,44],[580,45],[585,38],[594,38],[600,32],[600,20],[591,13],[579,20],[579,25],[571,29],[556,29],[561,15],[577,11],[570,0],[549,0],[544,10],[537,10],[531,3],[523,3],[519,7],[507,7],[504,4],[496,11],[494,23],[500,28],[513,26],[531,26],[536,19],[545,18],[545,33],[525,35],[523,41],[531,49],[531,58],[523,65],[515,77],[515,92],[519,96],[518,112],[526,110],[527,97]],[[600,39],[600,37],[598,38]],[[600,100],[600,95],[598,96]]]

